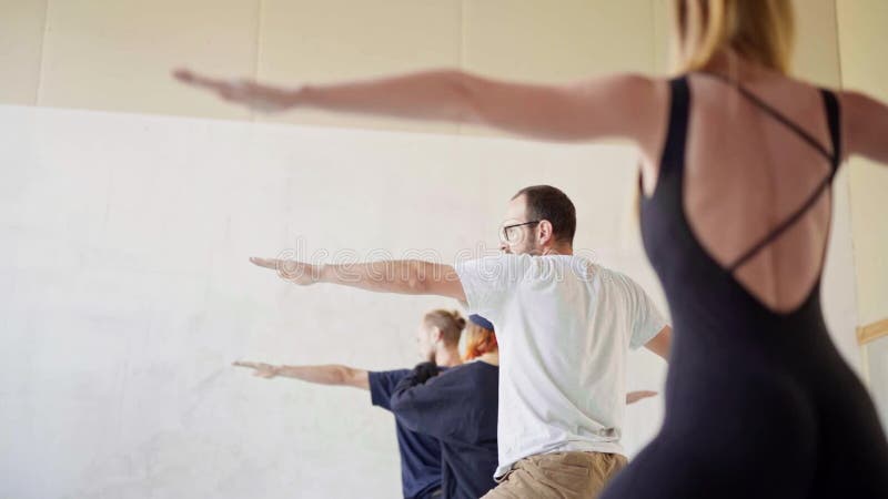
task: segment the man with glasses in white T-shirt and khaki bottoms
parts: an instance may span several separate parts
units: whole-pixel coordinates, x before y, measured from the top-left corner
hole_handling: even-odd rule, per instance
[[[537,185],[508,203],[502,255],[310,265],[252,258],[300,285],[441,295],[490,319],[500,343],[500,482],[485,498],[587,498],[626,464],[619,444],[629,348],[666,358],[672,329],[628,277],[573,254],[576,211]]]

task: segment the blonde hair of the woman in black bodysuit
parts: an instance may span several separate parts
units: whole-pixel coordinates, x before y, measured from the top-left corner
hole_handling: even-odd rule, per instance
[[[706,68],[725,51],[789,73],[795,23],[790,0],[673,0],[676,70]]]

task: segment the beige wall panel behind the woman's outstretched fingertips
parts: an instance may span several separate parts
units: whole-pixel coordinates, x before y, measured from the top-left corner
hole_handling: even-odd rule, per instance
[[[183,92],[169,74],[189,61],[213,73],[253,74],[258,2],[50,0],[46,23],[39,105],[249,116]]]

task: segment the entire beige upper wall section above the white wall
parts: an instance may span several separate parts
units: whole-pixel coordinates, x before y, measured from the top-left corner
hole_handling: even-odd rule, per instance
[[[840,83],[834,0],[797,0],[797,73]],[[330,81],[428,67],[569,81],[665,73],[667,0],[0,0],[0,102],[249,118],[169,71]],[[300,112],[262,120],[455,131]]]

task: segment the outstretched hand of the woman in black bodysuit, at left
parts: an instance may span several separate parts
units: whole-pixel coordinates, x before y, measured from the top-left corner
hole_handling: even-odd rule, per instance
[[[299,102],[297,90],[263,85],[252,80],[220,80],[202,77],[185,69],[175,70],[173,77],[182,83],[210,90],[226,101],[243,104],[254,111],[280,112],[295,106]]]

